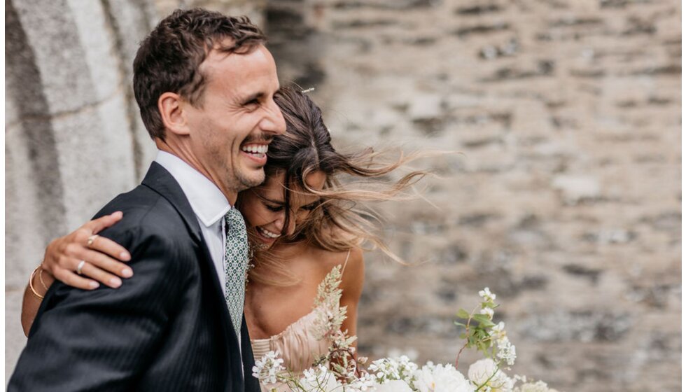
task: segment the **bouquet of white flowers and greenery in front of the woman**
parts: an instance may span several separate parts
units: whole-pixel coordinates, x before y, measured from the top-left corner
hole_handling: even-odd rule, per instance
[[[293,374],[283,367],[279,353],[270,351],[255,362],[253,376],[267,390],[274,385],[287,386],[297,392],[556,392],[543,381],[530,381],[525,376],[508,376],[517,358],[514,345],[507,338],[505,323],[494,323],[498,304],[489,288],[479,291],[480,304],[468,312],[460,309],[455,322],[464,329],[455,365],[428,362],[419,367],[407,356],[374,360],[366,368],[367,358],[356,358],[356,337],[341,331],[346,308],[339,307],[341,290],[340,267],[332,269],[319,285],[315,301],[316,335],[332,342],[327,355],[302,374]],[[456,367],[464,349],[476,349],[484,358],[470,365],[465,377]],[[519,385],[517,385],[519,383]],[[279,388],[281,390],[283,387]]]

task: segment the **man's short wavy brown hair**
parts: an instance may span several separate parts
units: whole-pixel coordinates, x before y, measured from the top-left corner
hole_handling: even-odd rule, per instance
[[[230,40],[227,45],[226,40]],[[199,70],[210,50],[249,52],[267,41],[248,17],[232,18],[194,8],[175,10],[141,43],[134,59],[134,94],[150,136],[165,139],[158,99],[176,92],[202,106],[205,77]]]

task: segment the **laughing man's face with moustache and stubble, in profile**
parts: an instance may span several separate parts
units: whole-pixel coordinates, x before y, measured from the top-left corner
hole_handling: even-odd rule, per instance
[[[224,193],[260,185],[267,146],[286,132],[274,103],[279,79],[272,55],[263,45],[244,54],[213,50],[200,70],[207,78],[202,108],[186,105],[190,155]]]

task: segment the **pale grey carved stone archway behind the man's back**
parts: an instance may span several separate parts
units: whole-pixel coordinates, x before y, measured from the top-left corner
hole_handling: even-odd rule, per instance
[[[22,0],[6,3],[5,374],[25,345],[21,299],[50,239],[138,183],[155,145],[139,116],[132,62],[174,8],[262,22],[263,3]]]

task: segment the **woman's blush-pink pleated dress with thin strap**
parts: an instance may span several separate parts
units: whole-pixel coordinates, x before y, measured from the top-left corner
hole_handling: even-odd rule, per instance
[[[341,275],[348,264],[349,257],[350,251],[345,258]],[[337,286],[339,284],[340,281]],[[320,305],[320,307],[322,306],[323,304]],[[255,360],[262,358],[269,351],[278,350],[281,354],[280,357],[283,358],[283,366],[291,372],[299,374],[303,370],[312,367],[314,360],[328,353],[331,343],[327,339],[317,340],[313,332],[318,310],[321,309],[312,309],[311,312],[299,318],[295,323],[288,325],[279,335],[274,335],[267,339],[251,339]],[[269,388],[262,386],[262,391],[271,392],[272,388],[276,388],[276,391],[279,392],[290,391],[288,386],[285,385],[274,385],[269,386]]]

